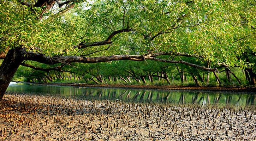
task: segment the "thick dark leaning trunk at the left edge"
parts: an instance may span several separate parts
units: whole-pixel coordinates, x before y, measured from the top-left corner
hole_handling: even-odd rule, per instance
[[[5,91],[9,86],[15,72],[26,51],[24,48],[15,48],[8,51],[4,61],[0,66],[0,101],[4,97]]]

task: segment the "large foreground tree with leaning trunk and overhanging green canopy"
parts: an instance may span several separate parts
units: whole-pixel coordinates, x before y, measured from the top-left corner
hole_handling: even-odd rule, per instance
[[[253,5],[253,0],[0,1],[0,99],[20,65],[60,71],[72,62],[153,60],[218,72],[215,66],[241,61],[233,59],[244,39],[255,43]],[[249,48],[255,53],[255,45]],[[171,56],[195,57],[213,68]],[[39,68],[28,60],[55,66]]]

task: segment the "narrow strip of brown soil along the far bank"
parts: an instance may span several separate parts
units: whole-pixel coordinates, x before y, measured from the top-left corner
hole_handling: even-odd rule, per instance
[[[245,92],[256,93],[256,87],[224,87],[224,86],[155,86],[155,85],[108,85],[108,84],[80,84],[80,83],[42,83],[47,85],[82,86],[82,87],[108,87],[108,88],[132,88],[148,90],[179,90],[179,91],[204,91],[204,92]]]

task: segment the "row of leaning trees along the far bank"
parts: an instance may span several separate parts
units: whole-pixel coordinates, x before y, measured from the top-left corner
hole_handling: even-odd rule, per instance
[[[136,85],[195,85],[195,86],[245,86],[253,85],[248,69],[225,67],[219,73],[201,71],[186,65],[162,62],[118,61],[97,64],[73,64],[61,71],[35,71],[20,67],[14,80],[26,82],[77,82],[87,84]],[[79,68],[79,69],[77,69]],[[23,79],[21,76],[23,76]],[[252,79],[251,79],[252,78]]]

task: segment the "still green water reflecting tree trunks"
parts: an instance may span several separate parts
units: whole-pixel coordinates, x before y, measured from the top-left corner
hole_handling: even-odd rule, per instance
[[[255,105],[256,94],[134,90],[123,88],[95,88],[39,85],[11,82],[7,91],[78,99],[118,99],[129,102],[197,103],[223,105]]]

